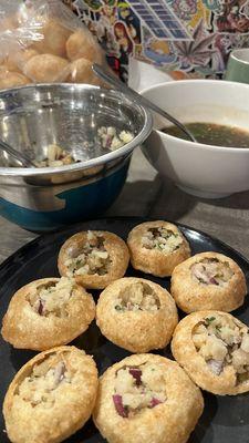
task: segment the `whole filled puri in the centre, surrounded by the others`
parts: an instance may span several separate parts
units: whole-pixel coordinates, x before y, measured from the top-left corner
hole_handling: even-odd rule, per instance
[[[112,282],[97,301],[96,323],[101,332],[131,352],[165,348],[177,322],[170,293],[143,278],[125,277]]]

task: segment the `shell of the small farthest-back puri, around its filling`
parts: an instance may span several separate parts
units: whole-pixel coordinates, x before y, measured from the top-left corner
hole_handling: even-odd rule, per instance
[[[159,249],[148,249],[142,245],[144,235],[151,228],[165,228],[183,238],[183,243],[173,253],[162,253]],[[135,226],[128,234],[127,245],[131,254],[131,262],[135,269],[152,274],[157,277],[168,277],[174,268],[190,256],[188,241],[177,226],[164,220],[145,222]]]

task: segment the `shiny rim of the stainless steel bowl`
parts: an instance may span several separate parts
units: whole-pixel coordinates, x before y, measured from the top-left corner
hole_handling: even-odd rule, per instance
[[[95,86],[87,83],[35,83],[29,84],[25,86],[18,86],[12,89],[6,89],[0,91],[0,99],[2,94],[15,92],[19,90],[28,90],[28,89],[35,89],[35,87],[48,87],[48,86],[60,86],[65,89],[76,89],[76,90],[100,90],[105,93],[111,93],[112,95],[115,94],[116,97],[122,97],[131,105],[133,105],[133,100],[125,95],[123,92],[114,90],[114,89],[106,89],[101,86]],[[136,106],[141,110],[142,115],[144,117],[144,123],[141,132],[128,143],[124,146],[117,148],[116,151],[112,151],[107,154],[104,154],[96,158],[91,158],[83,162],[77,162],[72,165],[64,165],[64,166],[56,166],[56,167],[0,167],[0,175],[1,176],[19,176],[19,177],[31,177],[31,176],[48,176],[48,175],[58,175],[58,174],[69,174],[70,172],[77,172],[87,169],[90,167],[98,166],[101,164],[105,164],[112,162],[118,157],[127,156],[135,147],[138,147],[151,134],[153,130],[153,116],[149,110],[144,107],[143,105],[136,103]]]

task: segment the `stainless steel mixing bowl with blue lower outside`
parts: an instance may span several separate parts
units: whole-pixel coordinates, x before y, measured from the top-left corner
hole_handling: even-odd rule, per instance
[[[107,152],[96,142],[101,126],[129,131],[135,137],[123,147]],[[80,162],[61,167],[23,168],[1,151],[0,214],[34,230],[43,230],[45,214],[48,230],[50,226],[54,229],[100,213],[106,186],[108,206],[118,194],[117,187],[121,190],[125,182],[127,158],[151,131],[149,112],[117,91],[86,84],[41,84],[1,92],[0,137],[3,141],[32,159],[42,159],[48,145],[58,144]],[[118,179],[110,178],[114,175]],[[86,187],[91,185],[93,189],[93,184],[97,193],[91,190],[92,205],[89,205]],[[79,190],[83,188],[84,195]],[[56,195],[65,193],[66,214],[58,214],[61,208]],[[75,210],[72,210],[72,198]],[[84,212],[84,206],[89,210]],[[56,213],[55,222],[52,213]]]

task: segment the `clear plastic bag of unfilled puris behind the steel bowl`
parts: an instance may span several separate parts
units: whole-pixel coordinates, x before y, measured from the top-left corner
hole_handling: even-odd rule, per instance
[[[0,0],[0,90],[29,83],[101,85],[104,51],[60,0]]]

